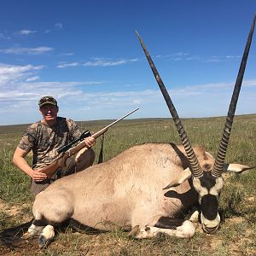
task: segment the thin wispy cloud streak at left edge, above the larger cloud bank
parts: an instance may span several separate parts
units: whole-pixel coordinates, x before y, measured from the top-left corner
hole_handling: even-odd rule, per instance
[[[51,47],[46,47],[46,46],[40,46],[37,48],[8,48],[8,49],[0,49],[0,52],[3,52],[5,54],[16,54],[16,55],[22,55],[22,54],[27,54],[27,55],[41,55],[50,51],[53,51],[54,49]]]

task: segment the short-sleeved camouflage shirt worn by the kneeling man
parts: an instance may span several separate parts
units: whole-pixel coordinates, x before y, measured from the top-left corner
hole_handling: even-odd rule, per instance
[[[80,135],[78,125],[72,119],[57,117],[57,123],[52,126],[44,125],[41,121],[30,125],[18,147],[27,152],[32,150],[32,168],[38,169],[58,159],[60,154],[57,149]]]

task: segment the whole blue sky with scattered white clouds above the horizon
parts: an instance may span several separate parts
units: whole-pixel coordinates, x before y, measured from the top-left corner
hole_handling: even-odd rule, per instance
[[[41,118],[55,96],[74,120],[169,117],[136,30],[180,117],[225,115],[253,0],[1,1],[0,125]],[[256,36],[236,114],[256,113]]]

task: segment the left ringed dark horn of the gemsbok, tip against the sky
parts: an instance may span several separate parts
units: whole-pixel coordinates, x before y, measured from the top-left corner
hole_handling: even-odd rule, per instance
[[[191,144],[189,143],[189,138],[186,134],[186,131],[181,123],[181,120],[179,119],[178,115],[177,115],[177,111],[172,103],[171,97],[168,94],[168,91],[166,90],[166,86],[163,83],[162,79],[160,78],[160,74],[158,73],[156,67],[154,66],[154,62],[152,61],[150,55],[148,54],[148,50],[146,49],[144,43],[143,43],[143,39],[140,37],[140,35],[137,32],[137,37],[140,40],[140,43],[142,44],[144,53],[148,59],[148,63],[154,73],[154,77],[160,87],[160,90],[166,100],[166,104],[170,110],[170,113],[172,114],[172,119],[175,122],[175,125],[177,127],[177,132],[179,134],[179,136],[181,137],[182,143],[183,143],[183,147],[185,148],[186,154],[188,156],[189,159],[189,164],[191,166],[191,172],[193,173],[193,175],[195,177],[201,177],[203,172],[201,170],[201,166],[199,165],[199,162],[195,156],[195,152],[193,150],[193,148],[191,147]]]

